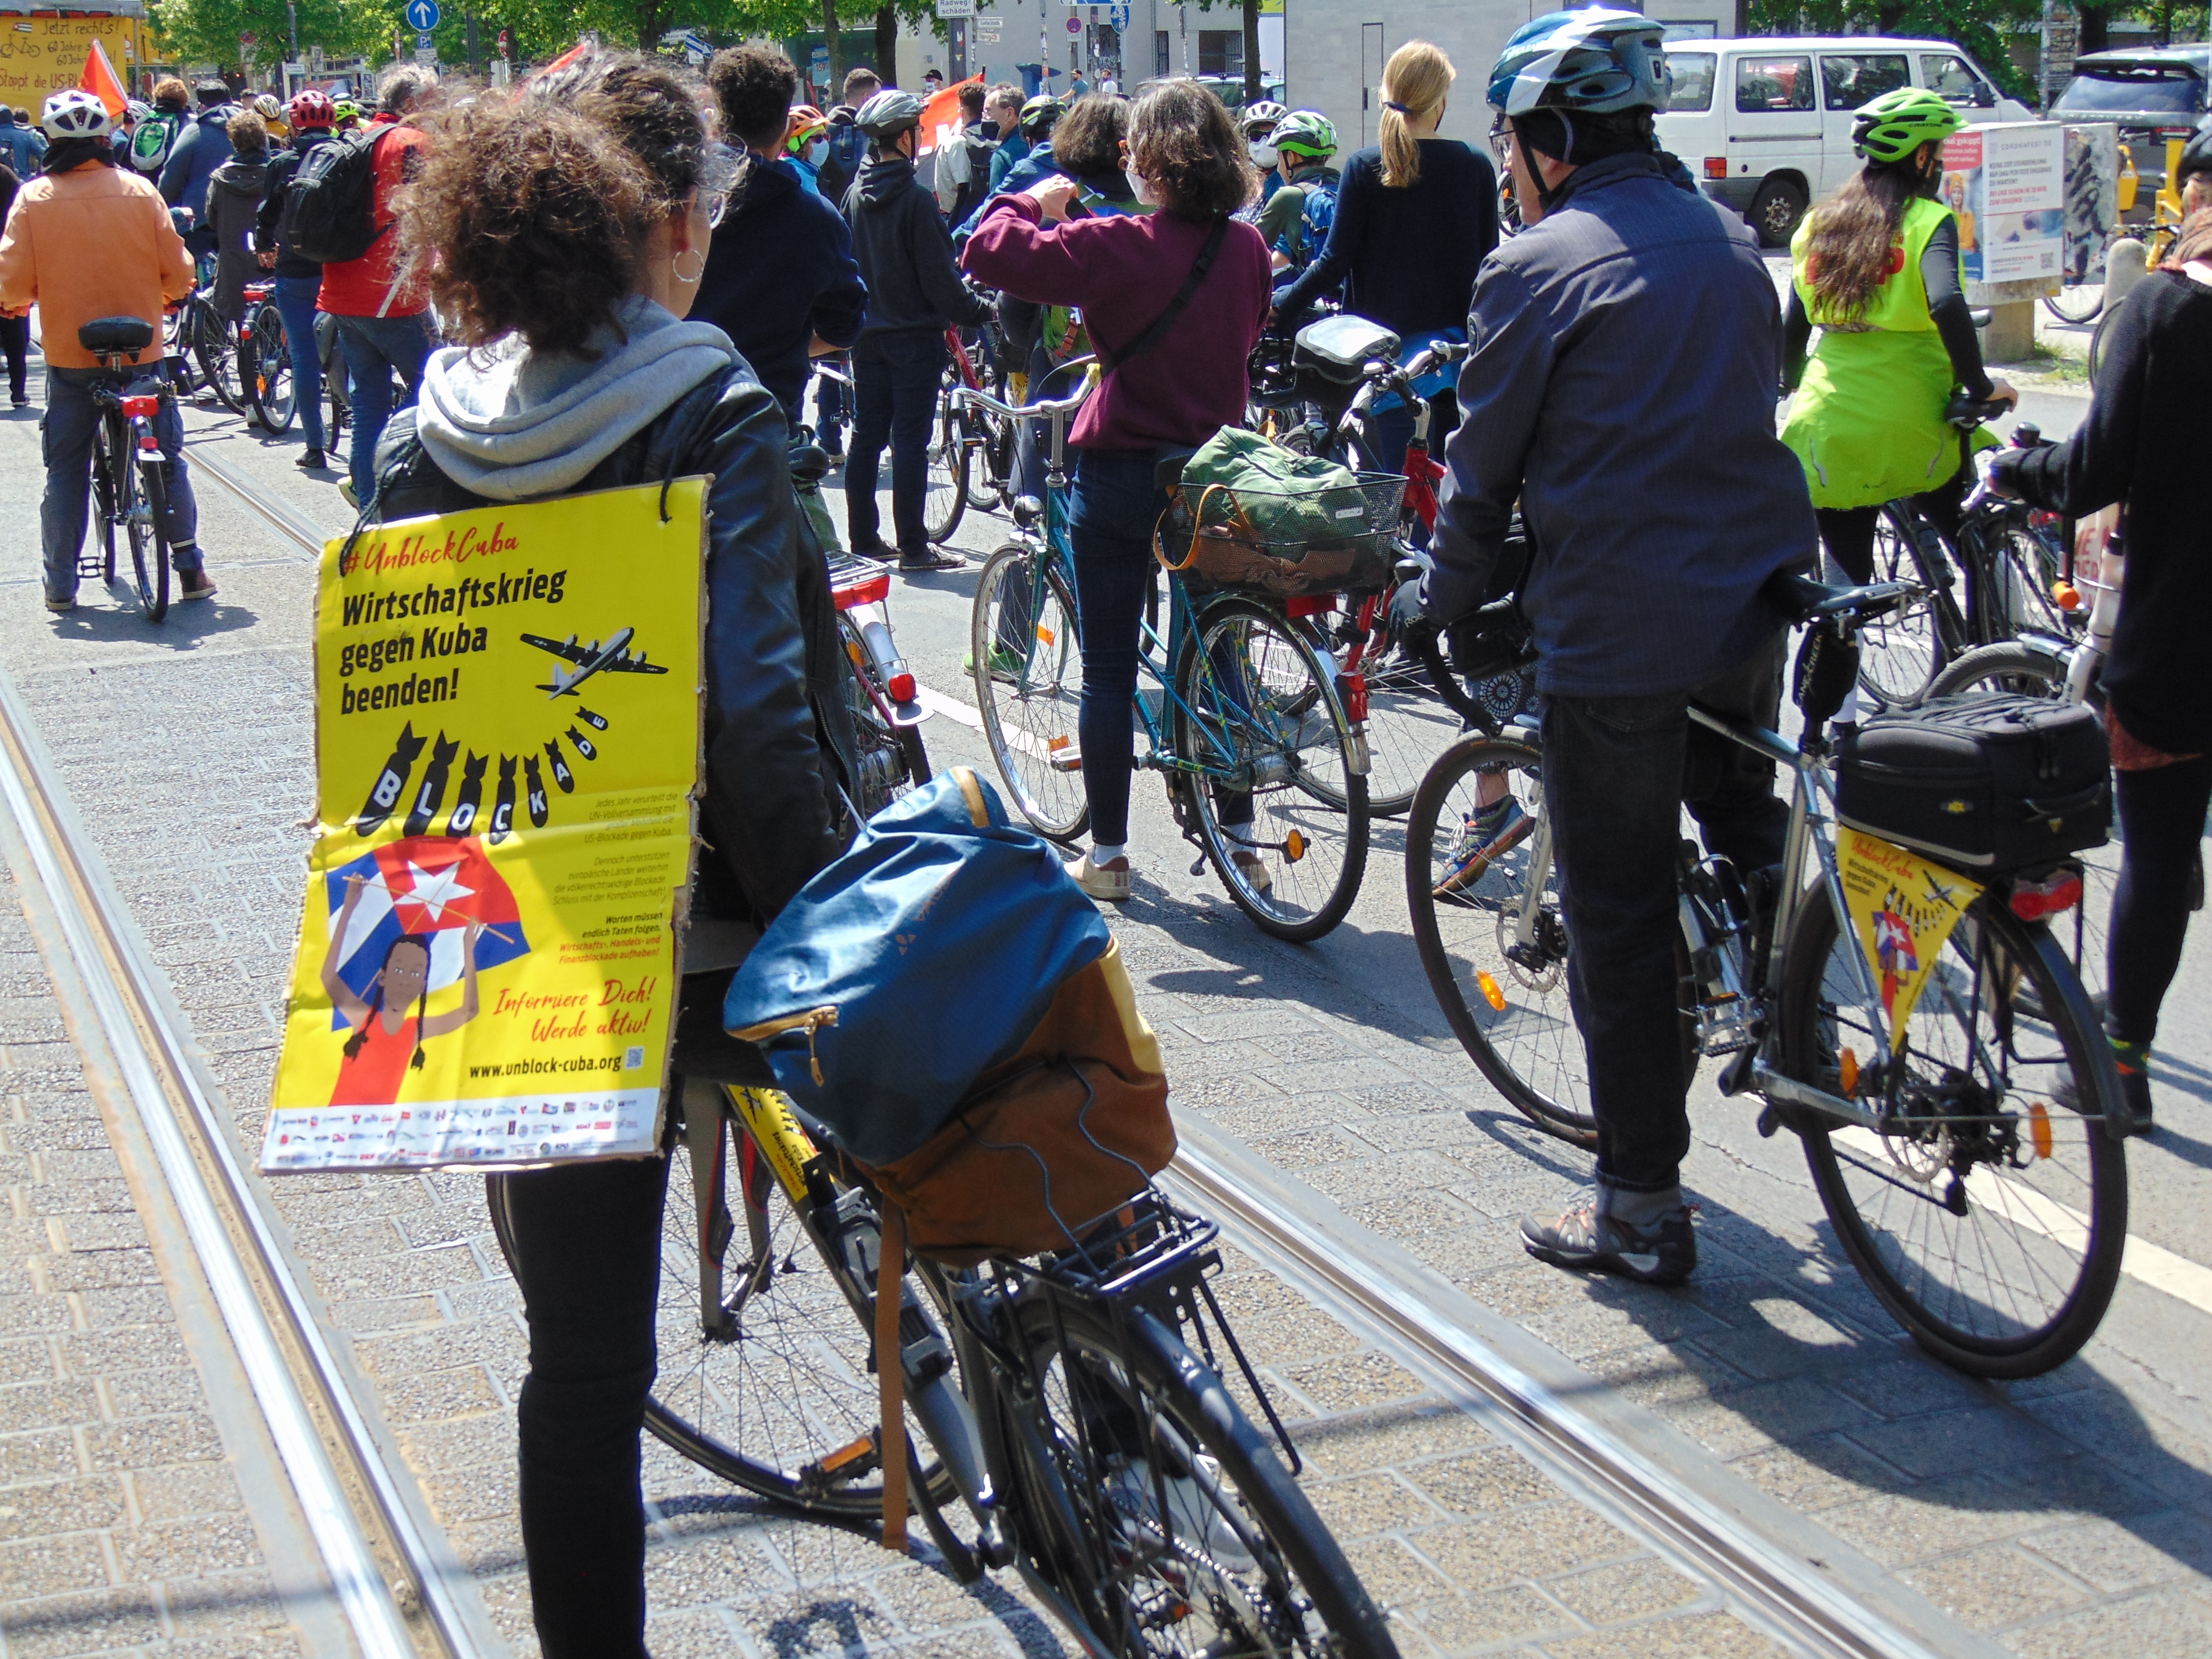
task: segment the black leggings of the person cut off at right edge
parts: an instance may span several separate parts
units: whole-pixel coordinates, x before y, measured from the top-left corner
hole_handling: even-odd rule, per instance
[[[2212,803],[2212,759],[2115,776],[2126,841],[2106,940],[2112,995],[2106,1031],[2117,1042],[2148,1044],[2190,931],[2190,885],[2205,834],[2205,805]]]

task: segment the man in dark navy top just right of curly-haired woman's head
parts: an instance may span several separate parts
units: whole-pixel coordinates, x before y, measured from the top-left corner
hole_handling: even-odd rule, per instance
[[[796,431],[810,358],[860,336],[867,285],[845,217],[783,159],[799,71],[774,46],[714,53],[708,84],[748,166],[714,228],[690,314],[714,323],[776,394]]]

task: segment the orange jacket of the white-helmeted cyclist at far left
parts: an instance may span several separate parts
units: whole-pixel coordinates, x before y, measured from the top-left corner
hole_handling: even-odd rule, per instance
[[[144,316],[155,343],[139,354],[161,361],[161,303],[192,292],[192,257],[168,221],[161,192],[122,168],[86,161],[44,173],[15,195],[0,234],[0,310],[38,303],[46,363],[97,369],[77,345],[95,316]]]

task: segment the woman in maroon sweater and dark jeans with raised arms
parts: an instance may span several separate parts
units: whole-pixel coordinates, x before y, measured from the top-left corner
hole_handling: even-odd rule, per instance
[[[1259,190],[1259,175],[1219,97],[1186,80],[1155,86],[1130,111],[1121,148],[1139,212],[1071,219],[1075,181],[1040,179],[989,208],[964,261],[1015,299],[1079,305],[1102,361],[1115,363],[1068,434],[1077,451],[1068,531],[1093,838],[1075,878],[1093,898],[1117,900],[1130,880],[1137,630],[1152,526],[1168,507],[1152,462],[1164,447],[1201,445],[1243,420],[1245,358],[1267,321],[1270,281],[1259,230],[1228,219]],[[1212,261],[1188,305],[1146,343],[1208,248]]]

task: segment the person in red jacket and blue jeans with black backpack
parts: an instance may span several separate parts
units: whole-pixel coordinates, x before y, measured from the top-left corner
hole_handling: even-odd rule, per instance
[[[398,268],[394,226],[398,210],[392,192],[409,184],[422,168],[422,146],[429,137],[411,126],[407,115],[429,102],[438,73],[420,64],[398,64],[385,73],[376,97],[383,104],[369,126],[376,131],[376,241],[361,259],[323,265],[323,292],[316,310],[338,319],[338,349],[354,396],[354,449],[349,478],[338,484],[354,507],[367,507],[376,495],[376,440],[392,420],[392,372],[398,369],[405,392],[398,407],[416,398],[422,363],[429,358],[429,299],[418,281],[407,281]]]

